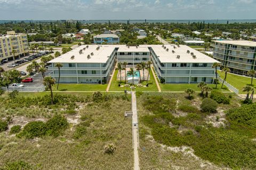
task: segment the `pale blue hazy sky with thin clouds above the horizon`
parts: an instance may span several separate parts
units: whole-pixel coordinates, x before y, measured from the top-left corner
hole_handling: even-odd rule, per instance
[[[0,0],[0,20],[256,19],[256,0]]]

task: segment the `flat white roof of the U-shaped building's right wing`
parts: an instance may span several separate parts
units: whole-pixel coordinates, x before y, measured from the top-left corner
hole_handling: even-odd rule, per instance
[[[217,60],[214,60],[210,56],[207,56],[197,50],[194,50],[193,48],[190,48],[187,45],[180,45],[180,47],[177,47],[175,45],[175,49],[173,48],[174,45],[165,45],[166,48],[169,48],[169,51],[167,52],[164,50],[162,45],[148,45],[151,46],[156,53],[158,59],[162,63],[214,63],[219,62]],[[174,50],[175,53],[172,53],[172,50]],[[196,55],[196,59],[193,59],[192,55],[187,53],[187,50],[194,53]],[[177,55],[180,55],[180,58],[177,58]]]

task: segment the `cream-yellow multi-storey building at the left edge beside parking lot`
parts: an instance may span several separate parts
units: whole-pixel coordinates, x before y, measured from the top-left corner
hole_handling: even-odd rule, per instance
[[[15,50],[15,59],[28,54],[27,35],[7,31],[7,35],[0,36],[0,61],[14,60],[12,50]]]

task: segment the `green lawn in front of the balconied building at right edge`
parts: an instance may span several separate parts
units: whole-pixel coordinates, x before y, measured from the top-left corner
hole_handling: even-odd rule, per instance
[[[218,74],[222,79],[224,79],[225,72],[218,71]],[[226,82],[237,88],[239,90],[239,94],[246,94],[246,92],[243,92],[243,87],[251,85],[251,78],[228,73]],[[256,88],[256,79],[253,79],[252,84],[253,87]]]

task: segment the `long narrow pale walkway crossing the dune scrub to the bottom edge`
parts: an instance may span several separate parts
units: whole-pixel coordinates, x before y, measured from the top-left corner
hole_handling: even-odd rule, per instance
[[[133,154],[134,154],[134,170],[140,169],[139,164],[139,127],[137,114],[137,101],[135,92],[132,92],[132,139],[133,139]]]

